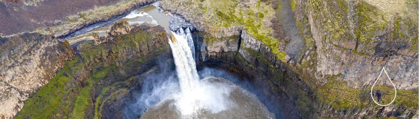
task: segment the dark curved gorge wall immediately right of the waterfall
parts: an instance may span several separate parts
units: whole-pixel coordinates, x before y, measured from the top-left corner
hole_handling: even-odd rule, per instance
[[[300,109],[312,109],[307,85],[289,72],[288,67],[275,60],[269,47],[243,30],[241,36],[216,38],[205,32],[195,32],[199,67],[216,67],[251,82],[260,100],[278,118],[298,119],[310,117]],[[266,58],[265,58],[266,57]],[[296,94],[299,94],[297,96]]]

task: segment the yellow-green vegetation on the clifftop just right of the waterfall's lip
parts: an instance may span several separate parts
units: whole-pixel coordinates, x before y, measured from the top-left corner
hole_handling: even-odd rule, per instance
[[[285,52],[279,50],[279,40],[270,35],[270,20],[275,17],[272,4],[257,0],[255,3],[242,0],[167,0],[170,5],[179,5],[192,16],[198,16],[206,22],[212,32],[223,28],[242,26],[248,34],[264,42],[281,61],[285,61]],[[180,3],[181,2],[181,3]],[[279,5],[280,6],[280,5]],[[203,19],[205,18],[205,19]],[[211,32],[211,31],[210,31]]]

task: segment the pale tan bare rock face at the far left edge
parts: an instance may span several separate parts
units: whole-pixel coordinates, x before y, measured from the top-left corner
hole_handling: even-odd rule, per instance
[[[68,42],[39,33],[0,37],[0,117],[12,118],[29,95],[48,83],[72,59]]]

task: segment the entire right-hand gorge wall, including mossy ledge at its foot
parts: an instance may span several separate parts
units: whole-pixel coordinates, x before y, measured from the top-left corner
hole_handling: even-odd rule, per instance
[[[300,33],[310,42],[308,45],[314,46],[306,49],[315,54],[306,52],[303,57],[311,60],[301,60],[300,68],[313,76],[309,80],[316,80],[306,82],[314,84],[311,87],[318,103],[315,108],[324,109],[318,115],[417,118],[417,13],[392,15],[366,1],[291,2]],[[417,10],[417,3],[412,5],[416,8],[404,9]],[[383,67],[397,88],[395,101],[385,107],[375,104],[370,95]],[[383,77],[385,73],[374,88],[384,92],[378,103],[388,104],[395,93],[387,77]],[[373,94],[377,100],[375,91]]]

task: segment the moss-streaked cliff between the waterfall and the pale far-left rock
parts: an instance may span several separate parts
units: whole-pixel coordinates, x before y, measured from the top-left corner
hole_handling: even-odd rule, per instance
[[[100,37],[103,42],[80,44],[73,60],[27,99],[15,118],[125,118],[124,109],[144,82],[142,74],[173,57],[161,26],[121,21],[111,29]],[[173,63],[163,68],[173,69]]]

